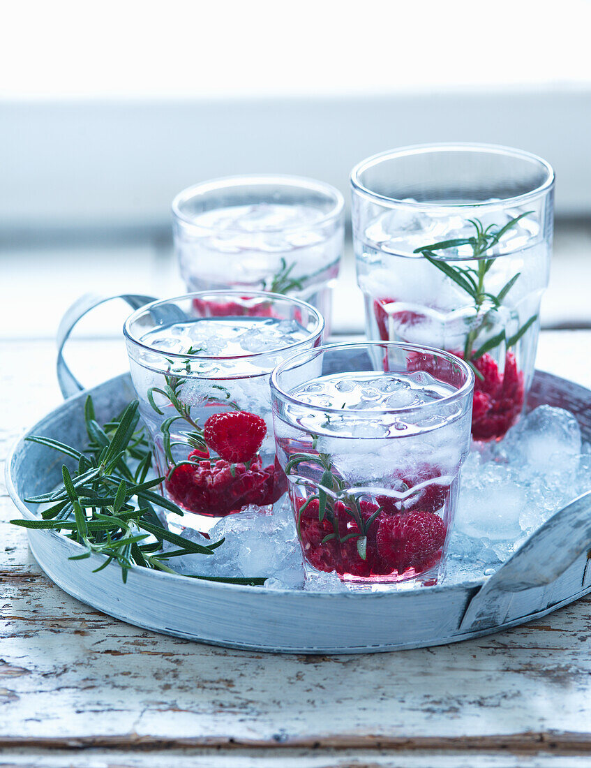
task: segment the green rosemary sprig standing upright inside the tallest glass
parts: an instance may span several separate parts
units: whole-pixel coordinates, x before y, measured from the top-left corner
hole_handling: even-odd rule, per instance
[[[476,230],[476,234],[474,236],[458,237],[455,240],[442,240],[440,243],[432,243],[428,246],[421,246],[420,248],[416,248],[414,253],[421,253],[429,263],[437,267],[438,270],[441,270],[441,272],[453,280],[454,283],[460,286],[462,290],[468,293],[468,295],[471,296],[471,298],[474,300],[476,316],[478,317],[480,314],[480,309],[485,303],[492,303],[493,310],[496,310],[498,307],[500,307],[507,297],[507,294],[513,288],[515,283],[517,283],[517,280],[520,277],[520,272],[514,274],[510,280],[508,280],[507,283],[505,283],[505,285],[500,289],[496,296],[494,293],[490,293],[489,291],[485,290],[484,278],[489,272],[490,268],[493,266],[494,262],[497,260],[497,257],[486,257],[485,254],[490,251],[491,248],[494,248],[494,246],[500,242],[501,238],[504,237],[504,235],[512,227],[515,227],[517,223],[523,219],[523,217],[528,216],[531,213],[533,213],[533,211],[528,210],[526,213],[520,214],[520,216],[511,219],[504,225],[504,227],[500,228],[495,224],[490,224],[485,229],[480,220],[470,219],[470,224],[474,227],[474,230]],[[476,269],[471,266],[452,265],[449,262],[441,260],[441,257],[434,257],[434,253],[437,251],[447,250],[448,248],[457,248],[464,245],[469,245],[472,248],[472,256],[470,258],[477,260]],[[477,340],[477,337],[480,336],[480,333],[482,333],[484,329],[490,329],[493,327],[493,322],[488,314],[489,313],[487,312],[484,315],[482,321],[474,325],[467,333],[466,342],[464,344],[464,359],[467,362],[474,362],[474,360],[477,360],[479,357],[483,356],[484,353],[490,351],[490,349],[494,349],[503,342],[506,343],[507,349],[510,349],[510,347],[517,344],[527,329],[530,328],[530,326],[537,320],[537,314],[531,316],[526,321],[526,323],[524,323],[523,326],[517,330],[517,333],[514,333],[513,336],[510,336],[508,339],[505,330],[503,329],[500,333],[497,333],[496,336],[492,336],[482,346],[480,346],[480,348],[475,350],[474,344]],[[477,376],[480,376],[481,378],[481,375],[477,369],[474,369],[474,371],[477,373]]]

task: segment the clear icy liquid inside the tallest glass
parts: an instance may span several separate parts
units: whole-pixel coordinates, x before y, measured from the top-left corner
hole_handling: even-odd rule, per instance
[[[523,213],[499,208],[483,215],[482,225],[493,225],[498,230]],[[483,293],[477,306],[463,287],[421,253],[414,253],[432,243],[474,234],[474,226],[464,215],[450,216],[437,210],[426,214],[410,209],[381,214],[356,233],[358,284],[365,298],[368,338],[432,346],[463,356],[466,351],[472,355],[488,345],[487,356],[497,366],[500,377],[504,376],[510,352],[517,360],[523,390],[527,392],[533,377],[540,300],[548,283],[550,243],[543,239],[534,215],[507,230],[500,242],[484,254],[492,261],[481,290],[490,295]],[[469,243],[435,253],[437,259],[451,266],[472,270],[471,276],[478,284],[481,260],[470,259],[470,255],[473,249]],[[497,296],[502,296],[500,303],[494,300]],[[520,334],[526,324],[525,333]],[[517,340],[509,344],[513,338]],[[501,394],[499,399],[504,399]],[[520,399],[523,402],[523,391]],[[490,422],[489,436],[502,437],[518,417],[519,403],[513,402],[511,407],[513,415],[500,419],[496,432]],[[477,428],[475,435],[480,432]]]

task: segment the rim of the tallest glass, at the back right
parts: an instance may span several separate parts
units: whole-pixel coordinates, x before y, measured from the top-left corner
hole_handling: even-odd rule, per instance
[[[497,154],[504,155],[505,157],[513,157],[514,159],[527,160],[538,164],[546,171],[546,180],[543,184],[535,187],[529,192],[523,194],[512,195],[510,197],[503,197],[500,200],[491,202],[490,200],[480,200],[473,203],[444,203],[442,201],[424,202],[419,200],[401,200],[396,197],[388,197],[387,195],[374,192],[369,187],[366,187],[362,183],[361,175],[371,167],[375,167],[381,162],[386,160],[395,159],[397,157],[406,157],[408,155],[415,154],[435,154],[437,152],[474,152],[480,154]],[[363,197],[367,197],[370,200],[374,200],[385,207],[411,207],[417,210],[432,210],[433,208],[498,208],[500,205],[507,204],[522,204],[533,198],[541,197],[546,192],[549,192],[554,186],[554,169],[550,163],[533,152],[527,152],[525,150],[515,149],[514,147],[505,147],[502,144],[481,144],[477,142],[466,141],[447,141],[437,142],[434,144],[409,144],[405,147],[398,147],[398,149],[386,150],[385,152],[378,152],[370,157],[366,157],[360,163],[356,164],[350,175],[350,182],[353,191],[361,194]]]

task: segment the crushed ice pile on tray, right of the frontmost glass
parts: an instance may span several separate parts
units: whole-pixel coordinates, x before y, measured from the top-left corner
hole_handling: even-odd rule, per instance
[[[451,558],[507,560],[554,512],[591,488],[591,451],[572,413],[540,406],[462,468]]]

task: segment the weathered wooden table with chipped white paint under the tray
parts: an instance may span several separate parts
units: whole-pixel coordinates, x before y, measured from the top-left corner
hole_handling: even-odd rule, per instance
[[[589,332],[540,368],[591,386]],[[105,378],[114,342],[74,342]],[[0,343],[0,449],[60,399],[48,342]],[[98,374],[101,376],[101,373]],[[111,370],[108,370],[111,375]],[[591,598],[390,654],[250,654],[122,624],[51,584],[0,498],[0,766],[589,766]]]

